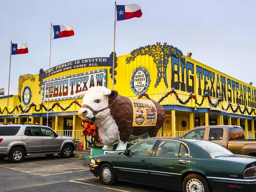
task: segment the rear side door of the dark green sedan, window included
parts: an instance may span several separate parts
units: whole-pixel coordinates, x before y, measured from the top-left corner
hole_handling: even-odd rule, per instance
[[[156,186],[179,189],[187,171],[188,146],[177,140],[160,140],[148,162],[149,181]]]

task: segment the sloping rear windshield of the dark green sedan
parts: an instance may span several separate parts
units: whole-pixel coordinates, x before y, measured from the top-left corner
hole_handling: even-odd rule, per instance
[[[212,158],[233,155],[233,153],[231,153],[228,149],[211,141],[196,141],[193,143],[203,148]]]

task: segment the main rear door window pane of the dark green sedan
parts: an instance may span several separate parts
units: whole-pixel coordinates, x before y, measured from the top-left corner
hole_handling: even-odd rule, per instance
[[[179,147],[180,147],[180,142],[163,140],[160,142],[160,144],[156,150],[155,156],[177,157]]]

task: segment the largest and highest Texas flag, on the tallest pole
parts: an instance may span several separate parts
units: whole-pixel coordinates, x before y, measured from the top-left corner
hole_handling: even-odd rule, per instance
[[[141,17],[141,6],[139,4],[116,5],[117,21]]]

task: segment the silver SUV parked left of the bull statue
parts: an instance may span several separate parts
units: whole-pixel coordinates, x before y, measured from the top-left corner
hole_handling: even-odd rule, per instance
[[[50,127],[39,124],[0,124],[0,160],[20,163],[24,156],[73,155],[77,148],[72,137],[60,136]]]

